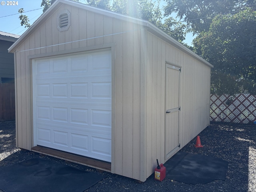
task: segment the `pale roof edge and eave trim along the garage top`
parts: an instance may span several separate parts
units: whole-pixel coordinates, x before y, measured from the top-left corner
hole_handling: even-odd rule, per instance
[[[12,44],[12,46],[8,49],[8,51],[9,52],[15,52],[16,48],[18,48],[18,46],[20,46],[22,44],[23,40],[25,40],[28,36],[30,36],[37,29],[37,27],[40,26],[48,17],[50,17],[50,15],[53,12],[55,12],[62,4],[68,4],[68,5],[71,5],[71,6],[76,6],[76,7],[79,7],[79,8],[83,8],[84,10],[92,11],[92,12],[95,12],[95,13],[98,13],[98,14],[103,14],[103,15],[110,16],[110,17],[113,17],[113,18],[118,18],[120,20],[126,20],[126,21],[129,21],[129,22],[134,22],[136,24],[140,24],[140,25],[144,26],[149,32],[158,36],[162,40],[168,42],[172,46],[182,50],[186,54],[192,56],[193,58],[199,60],[200,62],[206,64],[207,66],[213,67],[212,64],[210,64],[209,62],[207,62],[206,60],[204,60],[203,58],[201,58],[200,56],[198,56],[197,54],[192,52],[186,46],[182,45],[180,42],[178,42],[177,40],[175,40],[174,38],[172,38],[171,36],[166,34],[164,31],[160,30],[158,27],[154,26],[151,22],[149,22],[147,20],[142,20],[140,18],[127,16],[127,15],[124,15],[124,14],[120,14],[120,13],[112,12],[112,11],[109,11],[109,10],[96,8],[96,7],[93,7],[93,6],[89,6],[89,5],[86,5],[86,4],[82,4],[82,3],[74,2],[74,1],[70,1],[70,0],[57,0],[57,1],[55,1],[50,6],[50,8],[48,8],[30,26],[30,28],[28,28],[28,30],[26,30],[26,32],[24,32],[24,34],[22,34],[22,36],[20,36],[20,38],[14,44]]]

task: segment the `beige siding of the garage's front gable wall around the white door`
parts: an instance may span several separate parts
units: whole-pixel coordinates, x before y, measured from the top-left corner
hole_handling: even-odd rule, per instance
[[[90,50],[90,47],[93,49],[95,46],[114,42],[116,43],[113,82],[115,130],[112,130],[114,132],[112,172],[140,180],[141,31],[138,30],[139,26],[129,22],[123,24],[116,18],[86,12],[68,5],[59,8],[62,9],[71,12],[69,30],[58,31],[56,26],[58,11],[56,11],[16,50],[17,145],[27,150],[31,150],[33,146],[32,88],[30,87],[32,69],[28,56],[30,58],[39,54],[39,57],[48,56],[54,55],[54,52],[58,54],[84,47],[89,47]]]

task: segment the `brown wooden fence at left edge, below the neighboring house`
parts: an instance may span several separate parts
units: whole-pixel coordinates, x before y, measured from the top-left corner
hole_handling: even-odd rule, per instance
[[[14,83],[0,84],[0,121],[15,119]]]

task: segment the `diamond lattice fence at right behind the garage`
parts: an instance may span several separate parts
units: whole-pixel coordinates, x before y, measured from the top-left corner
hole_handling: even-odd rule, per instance
[[[256,95],[211,94],[210,121],[252,123],[256,121]]]

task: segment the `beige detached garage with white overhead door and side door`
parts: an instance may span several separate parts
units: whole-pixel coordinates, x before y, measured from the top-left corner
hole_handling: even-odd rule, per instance
[[[20,148],[145,181],[210,124],[212,65],[146,20],[57,0],[9,52]]]

